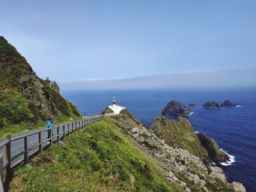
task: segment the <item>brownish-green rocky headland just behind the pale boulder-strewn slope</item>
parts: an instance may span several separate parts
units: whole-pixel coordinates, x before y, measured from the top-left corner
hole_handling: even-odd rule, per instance
[[[208,158],[206,149],[201,145],[189,120],[178,117],[178,120],[167,120],[164,116],[155,118],[149,131],[164,139],[170,147],[188,150],[202,160]]]

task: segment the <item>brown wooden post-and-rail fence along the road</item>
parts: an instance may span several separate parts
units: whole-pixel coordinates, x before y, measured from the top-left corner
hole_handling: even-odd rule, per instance
[[[104,116],[96,115],[71,123],[60,124],[52,128],[38,128],[32,131],[24,131],[23,134],[12,136],[4,135],[4,142],[0,143],[0,176],[1,182],[10,177],[12,168],[20,164],[28,164],[31,156],[42,152],[45,147],[53,142],[60,142],[67,135],[96,121]],[[50,138],[48,139],[48,131]],[[4,177],[5,176],[5,177]]]

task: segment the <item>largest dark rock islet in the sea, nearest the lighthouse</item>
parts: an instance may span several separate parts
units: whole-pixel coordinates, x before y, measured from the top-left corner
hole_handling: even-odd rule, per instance
[[[167,106],[163,110],[163,114],[171,114],[171,115],[179,115],[179,116],[188,116],[190,115],[191,111],[189,108],[181,104],[178,101],[170,101],[167,103]]]

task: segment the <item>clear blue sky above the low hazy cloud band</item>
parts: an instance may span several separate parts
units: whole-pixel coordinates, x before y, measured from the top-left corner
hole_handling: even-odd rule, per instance
[[[61,85],[256,68],[254,0],[0,1],[0,35]]]

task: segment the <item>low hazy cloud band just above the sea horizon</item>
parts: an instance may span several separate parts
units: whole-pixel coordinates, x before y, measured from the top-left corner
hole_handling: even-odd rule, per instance
[[[236,88],[256,86],[256,68],[214,69],[133,78],[97,78],[59,82],[65,90],[136,88]]]

